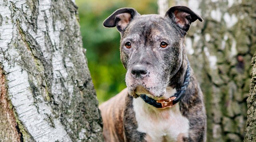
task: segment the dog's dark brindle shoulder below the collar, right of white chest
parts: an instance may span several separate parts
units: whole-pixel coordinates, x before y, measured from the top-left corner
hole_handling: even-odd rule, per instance
[[[180,110],[190,122],[188,141],[206,141],[206,110],[204,97],[200,85],[191,69],[190,85],[183,99],[180,101]]]

